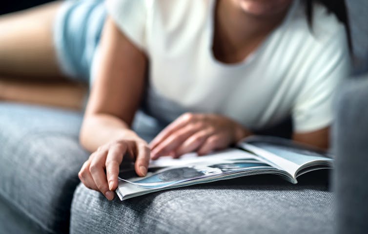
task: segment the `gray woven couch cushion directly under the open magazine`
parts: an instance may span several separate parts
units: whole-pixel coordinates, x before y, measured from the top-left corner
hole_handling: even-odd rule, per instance
[[[113,202],[81,184],[70,232],[328,234],[333,232],[334,196],[327,191],[326,174],[304,175],[298,185],[251,176]]]

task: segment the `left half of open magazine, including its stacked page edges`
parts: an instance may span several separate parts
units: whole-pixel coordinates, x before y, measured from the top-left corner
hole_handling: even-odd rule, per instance
[[[162,157],[150,164],[145,177],[137,177],[134,168],[121,168],[117,193],[122,199],[132,194],[139,196],[173,186],[262,173],[285,174],[265,160],[240,149],[228,149],[200,157],[193,154],[180,159]]]

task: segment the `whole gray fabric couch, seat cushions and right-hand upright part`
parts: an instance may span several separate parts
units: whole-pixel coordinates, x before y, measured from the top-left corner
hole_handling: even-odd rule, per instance
[[[368,80],[350,83],[334,126],[336,192],[318,171],[297,185],[252,176],[110,202],[78,180],[81,113],[0,103],[0,233],[364,233]]]

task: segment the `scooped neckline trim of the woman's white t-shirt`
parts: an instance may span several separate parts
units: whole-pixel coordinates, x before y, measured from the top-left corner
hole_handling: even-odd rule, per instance
[[[265,48],[266,45],[271,41],[271,39],[274,37],[275,33],[278,31],[278,29],[282,27],[286,27],[287,22],[289,22],[291,15],[295,11],[298,5],[299,0],[294,0],[291,3],[290,8],[288,9],[285,18],[283,21],[278,25],[276,28],[274,28],[266,37],[265,39],[256,47],[255,50],[253,50],[250,54],[245,56],[241,61],[236,63],[224,63],[220,60],[218,60],[214,53],[213,53],[213,42],[214,42],[214,32],[215,32],[215,17],[216,17],[216,5],[218,0],[211,0],[210,2],[210,12],[207,14],[207,52],[208,56],[210,57],[210,60],[212,63],[216,64],[217,66],[223,67],[223,68],[240,68],[243,66],[246,66],[250,64],[258,54],[260,54]]]

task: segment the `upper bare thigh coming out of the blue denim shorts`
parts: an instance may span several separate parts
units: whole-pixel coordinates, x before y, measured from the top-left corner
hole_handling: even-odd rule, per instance
[[[0,74],[61,77],[52,36],[60,5],[55,1],[0,16]]]

